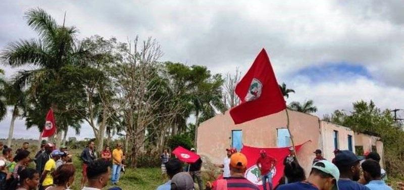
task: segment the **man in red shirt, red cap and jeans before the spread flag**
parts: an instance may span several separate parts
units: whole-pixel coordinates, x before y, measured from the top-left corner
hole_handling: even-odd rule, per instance
[[[272,170],[276,166],[276,159],[267,155],[265,150],[260,151],[260,157],[257,160],[257,167],[261,171],[261,180],[264,190],[267,190],[267,180],[269,189],[272,190]]]

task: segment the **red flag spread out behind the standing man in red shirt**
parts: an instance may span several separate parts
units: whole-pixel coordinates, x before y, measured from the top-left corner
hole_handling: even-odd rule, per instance
[[[296,153],[299,151],[301,146],[303,146],[304,144],[295,146]],[[285,157],[289,155],[289,147],[256,148],[256,147],[248,147],[248,146],[244,145],[243,148],[241,149],[241,153],[243,153],[247,157],[247,160],[248,160],[247,170],[245,171],[244,177],[247,178],[252,183],[258,185],[260,187],[260,189],[263,189],[262,181],[261,181],[261,177],[260,177],[261,172],[258,170],[258,167],[256,165],[257,160],[260,157],[261,150],[265,150],[267,152],[267,155],[269,155],[277,160],[275,169],[272,171],[274,173],[272,175],[272,182],[273,182],[272,184],[273,184],[273,187],[275,187],[276,185],[278,185],[279,180],[283,176],[283,168],[284,168],[283,159],[285,159]],[[267,189],[269,189],[269,188],[267,188]]]

